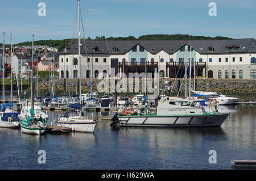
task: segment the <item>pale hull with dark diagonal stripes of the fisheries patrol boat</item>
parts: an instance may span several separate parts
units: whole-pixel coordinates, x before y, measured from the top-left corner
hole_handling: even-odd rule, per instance
[[[220,127],[229,114],[119,116],[121,127]]]

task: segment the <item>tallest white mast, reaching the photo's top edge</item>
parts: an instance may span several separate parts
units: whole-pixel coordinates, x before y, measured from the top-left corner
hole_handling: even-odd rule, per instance
[[[78,14],[78,47],[79,47],[79,104],[80,104],[80,110],[81,110],[81,44],[80,44],[80,0],[77,0],[77,14]],[[81,114],[80,114],[81,116]]]

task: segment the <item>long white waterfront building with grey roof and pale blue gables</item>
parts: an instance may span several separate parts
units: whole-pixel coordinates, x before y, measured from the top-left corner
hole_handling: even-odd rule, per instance
[[[183,78],[189,62],[192,77],[256,78],[255,39],[86,40],[86,46],[81,43],[82,78],[106,78],[111,70],[114,70],[111,76],[144,72],[152,73],[152,77],[159,73],[160,77]],[[60,78],[78,77],[77,43],[60,53],[59,68]],[[189,77],[189,68],[187,75]]]

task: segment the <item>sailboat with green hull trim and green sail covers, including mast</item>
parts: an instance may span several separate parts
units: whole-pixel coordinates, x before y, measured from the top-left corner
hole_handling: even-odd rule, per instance
[[[34,86],[33,86],[33,46],[34,46],[34,35],[32,35],[32,64],[31,64],[31,108],[30,108],[30,114],[31,116],[25,116],[21,118],[20,122],[20,128],[23,133],[28,133],[28,134],[43,134],[46,132],[47,128],[47,122],[46,120],[43,119],[42,116],[35,115],[34,112],[34,104],[35,104],[35,96],[34,96]],[[27,100],[27,105],[28,105],[28,100]],[[28,110],[27,110],[28,112]]]

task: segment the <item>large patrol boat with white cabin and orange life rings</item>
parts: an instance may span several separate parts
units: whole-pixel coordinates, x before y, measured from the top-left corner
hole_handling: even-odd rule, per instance
[[[129,110],[115,114],[113,124],[121,127],[220,127],[228,113],[207,113],[196,106],[195,100],[162,98],[156,113],[147,110]]]

